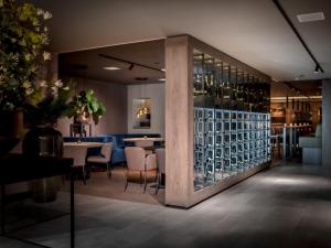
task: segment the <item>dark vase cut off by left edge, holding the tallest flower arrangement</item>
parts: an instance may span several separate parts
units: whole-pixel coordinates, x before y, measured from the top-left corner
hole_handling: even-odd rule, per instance
[[[23,112],[0,111],[0,157],[6,155],[21,140],[23,133]]]

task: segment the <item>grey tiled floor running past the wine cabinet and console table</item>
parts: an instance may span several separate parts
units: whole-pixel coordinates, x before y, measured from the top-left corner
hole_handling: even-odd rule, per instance
[[[77,195],[77,247],[330,248],[330,179],[331,169],[276,166],[188,211]],[[67,229],[64,216],[15,235],[62,248]]]

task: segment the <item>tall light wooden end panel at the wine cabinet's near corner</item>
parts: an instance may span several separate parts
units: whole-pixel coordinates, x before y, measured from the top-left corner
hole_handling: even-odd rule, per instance
[[[189,36],[166,40],[166,204],[181,207],[193,191],[192,63]]]

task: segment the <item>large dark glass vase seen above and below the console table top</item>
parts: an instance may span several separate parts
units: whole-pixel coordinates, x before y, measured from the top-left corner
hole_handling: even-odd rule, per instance
[[[23,139],[23,153],[29,157],[61,158],[63,153],[62,133],[52,126],[32,127]],[[29,190],[34,202],[49,203],[56,200],[61,184],[61,176],[46,177],[31,181]]]

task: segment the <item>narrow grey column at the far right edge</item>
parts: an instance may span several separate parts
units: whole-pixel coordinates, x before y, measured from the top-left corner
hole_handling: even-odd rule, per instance
[[[322,164],[331,168],[331,79],[322,85]]]

